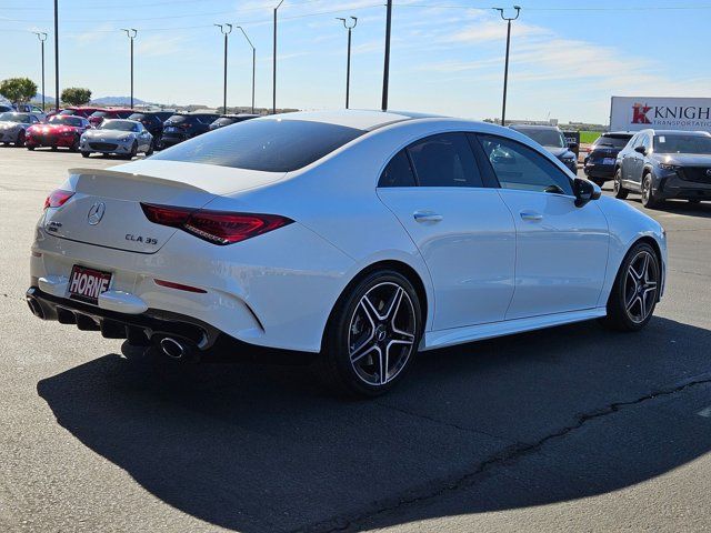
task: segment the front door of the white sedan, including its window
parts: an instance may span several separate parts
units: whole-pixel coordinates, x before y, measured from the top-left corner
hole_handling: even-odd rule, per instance
[[[600,208],[577,208],[571,179],[542,153],[508,138],[477,137],[517,229],[507,320],[597,306],[609,245]]]

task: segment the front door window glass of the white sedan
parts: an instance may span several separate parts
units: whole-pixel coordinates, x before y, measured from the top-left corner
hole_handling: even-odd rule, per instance
[[[557,185],[564,194],[573,194],[570,179],[542,154],[511,139],[478,137],[503,189],[550,192]]]

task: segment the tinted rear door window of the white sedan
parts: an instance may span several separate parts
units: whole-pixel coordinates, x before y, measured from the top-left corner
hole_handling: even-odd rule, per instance
[[[420,187],[483,187],[464,133],[441,133],[408,147]]]

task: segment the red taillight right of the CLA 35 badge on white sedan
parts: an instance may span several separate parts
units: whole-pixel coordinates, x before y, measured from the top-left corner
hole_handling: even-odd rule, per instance
[[[179,228],[213,244],[233,244],[283,228],[293,220],[278,214],[230,213],[141,203],[148,220]]]

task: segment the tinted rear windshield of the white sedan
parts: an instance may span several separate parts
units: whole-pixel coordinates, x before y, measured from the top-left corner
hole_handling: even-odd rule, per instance
[[[152,159],[290,172],[363,133],[354,128],[306,120],[246,120],[177,144]]]

